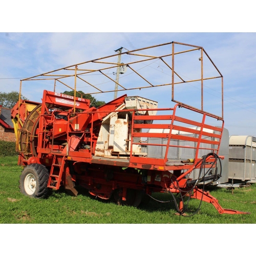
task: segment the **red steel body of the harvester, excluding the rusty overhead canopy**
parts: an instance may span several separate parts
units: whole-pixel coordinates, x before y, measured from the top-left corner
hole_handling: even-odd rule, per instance
[[[30,156],[28,159],[23,157],[23,164],[28,165],[31,163],[40,163],[46,166],[51,167],[51,176],[49,179],[48,187],[58,189],[61,181],[65,185],[66,189],[70,188],[70,181],[79,181],[83,186],[89,188],[90,193],[92,195],[101,197],[103,199],[109,199],[113,190],[118,187],[122,187],[122,199],[126,200],[126,193],[128,188],[133,188],[136,190],[146,190],[147,194],[151,194],[152,192],[165,192],[169,191],[170,193],[181,193],[186,195],[188,191],[190,191],[191,187],[187,187],[187,180],[185,178],[186,175],[189,175],[195,168],[199,168],[201,163],[201,156],[198,155],[199,150],[208,150],[211,153],[215,153],[218,155],[219,147],[221,143],[222,131],[224,127],[224,121],[222,120],[222,126],[216,127],[205,123],[206,116],[211,118],[216,118],[208,113],[205,113],[200,110],[195,110],[193,108],[189,108],[188,106],[182,106],[180,104],[176,104],[172,109],[152,109],[152,111],[159,112],[172,112],[172,114],[167,115],[156,115],[156,116],[148,116],[141,115],[136,116],[135,113],[137,109],[129,109],[129,110],[115,110],[117,106],[119,106],[124,101],[124,96],[121,96],[109,104],[103,105],[99,109],[89,108],[89,102],[86,100],[81,101],[79,108],[82,112],[73,113],[73,104],[72,102],[64,100],[66,95],[56,95],[54,92],[44,91],[44,97],[42,98],[42,107],[41,113],[39,115],[39,123],[38,127],[34,127],[36,129],[36,136],[38,136],[37,141],[37,154]],[[61,100],[59,100],[61,99]],[[63,101],[62,101],[63,99]],[[49,109],[49,107],[51,110]],[[59,107],[64,107],[65,110],[57,110]],[[202,121],[196,122],[194,120],[189,120],[177,115],[178,108],[185,108],[189,111],[196,111],[197,113],[202,115]],[[56,110],[54,110],[56,109]],[[54,111],[52,111],[54,110]],[[78,109],[77,109],[78,110]],[[143,110],[141,110],[143,111]],[[144,111],[151,111],[151,109],[145,109]],[[100,126],[100,121],[104,116],[109,115],[114,112],[129,112],[132,113],[131,120],[131,152],[130,156],[126,159],[122,158],[98,158],[94,157],[95,153],[95,145],[97,142],[98,134],[95,133],[94,128],[96,126]],[[45,114],[46,113],[46,114]],[[65,119],[56,118],[55,114],[61,114],[62,116],[66,116]],[[85,117],[86,116],[86,117]],[[79,123],[80,129],[79,131],[74,131],[74,126],[72,126],[72,119],[76,120],[76,123]],[[88,120],[88,121],[87,121]],[[138,123],[138,121],[151,120],[154,122],[161,120],[168,120],[169,123]],[[137,122],[136,122],[137,121]],[[176,125],[176,122],[179,125]],[[86,123],[86,126],[84,125]],[[200,126],[200,130],[191,129],[188,126]],[[89,131],[86,131],[86,128]],[[143,130],[145,129],[167,129],[166,133],[145,133]],[[217,133],[209,133],[206,132],[205,129],[209,129],[215,131]],[[77,129],[78,130],[78,129]],[[195,136],[186,136],[172,133],[173,130],[179,130],[181,132],[186,132],[189,134],[194,134]],[[62,133],[61,133],[61,132]],[[141,132],[138,132],[141,131]],[[208,130],[207,130],[208,131]],[[60,133],[59,133],[60,132]],[[87,137],[85,137],[87,136]],[[213,140],[203,139],[203,136],[208,136],[214,138]],[[134,142],[134,138],[136,137],[147,137],[147,138],[165,138],[167,139],[166,144],[152,144],[145,142]],[[32,140],[34,137],[28,138]],[[67,141],[66,145],[56,145],[55,142],[58,141]],[[169,160],[167,158],[168,149],[170,147],[174,147],[174,145],[170,145],[170,141],[172,140],[182,140],[188,142],[196,143],[195,147],[189,147],[190,149],[195,149],[196,154],[193,163],[185,163],[182,164],[181,161]],[[77,145],[83,143],[88,143],[90,145],[90,150],[81,150],[77,148]],[[200,144],[209,144],[210,147],[200,146]],[[133,145],[154,145],[154,146],[164,146],[166,147],[165,155],[163,159],[159,158],[148,158],[135,156],[133,153]],[[187,147],[180,146],[177,147]],[[20,152],[21,155],[24,152]],[[67,161],[72,161],[74,168],[76,169],[77,174],[71,175],[70,169],[68,166],[65,167]],[[205,162],[205,168],[212,166],[213,158],[209,156]],[[88,177],[86,175],[79,174],[80,169],[83,166],[87,166],[84,164],[90,164],[89,167],[94,171],[94,175],[92,177]],[[56,167],[55,167],[56,166]],[[114,169],[115,179],[112,181],[107,181],[104,178],[104,168],[100,166],[109,166]],[[147,184],[143,185],[141,175],[132,173],[132,174],[123,174],[120,172],[120,168],[130,168],[130,169],[141,169],[147,170],[147,177],[150,177],[150,180],[147,180]],[[86,167],[87,168],[87,167]],[[151,180],[154,177],[158,176],[159,181]],[[135,181],[139,180],[140,182],[136,183]],[[147,178],[148,179],[148,178]],[[55,181],[53,184],[52,182]],[[95,184],[100,184],[100,190],[95,189]],[[75,189],[73,189],[73,194],[76,195]],[[220,214],[246,214],[247,212],[241,212],[236,210],[223,209],[218,200],[214,197],[210,196],[205,191],[194,187],[193,195],[191,198],[201,199],[203,201],[212,203]],[[180,202],[180,212],[183,210],[183,201]]]

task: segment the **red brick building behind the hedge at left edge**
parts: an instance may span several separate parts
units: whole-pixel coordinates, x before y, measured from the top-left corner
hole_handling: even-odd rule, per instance
[[[0,140],[15,141],[11,110],[0,105]]]

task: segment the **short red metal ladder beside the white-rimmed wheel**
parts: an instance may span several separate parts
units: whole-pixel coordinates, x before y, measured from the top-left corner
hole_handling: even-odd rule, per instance
[[[60,163],[60,164],[59,164]],[[50,176],[47,187],[59,189],[65,165],[65,156],[53,156]]]

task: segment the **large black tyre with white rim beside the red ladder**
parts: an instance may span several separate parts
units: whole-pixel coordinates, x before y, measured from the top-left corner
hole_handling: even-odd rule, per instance
[[[43,198],[48,193],[49,172],[41,164],[30,164],[26,166],[20,175],[20,191],[29,197]]]

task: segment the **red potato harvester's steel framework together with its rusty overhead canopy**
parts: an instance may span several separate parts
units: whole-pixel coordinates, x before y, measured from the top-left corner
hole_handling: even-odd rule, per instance
[[[182,51],[182,52],[175,52],[174,46],[175,44],[180,44],[188,47],[192,47],[193,49]],[[154,47],[159,47],[163,45],[172,45],[172,53],[162,56],[147,56],[144,54],[137,54],[137,51],[143,51],[145,49],[150,49]],[[83,99],[82,97],[71,97],[67,95],[61,95],[56,92],[49,92],[44,91],[44,96],[42,98],[41,109],[38,109],[38,116],[36,116],[36,121],[33,121],[30,126],[32,128],[23,127],[24,120],[20,122],[20,118],[24,116],[20,112],[23,107],[23,102],[20,100],[20,103],[15,108],[17,111],[13,111],[13,118],[17,118],[17,123],[19,127],[19,135],[18,138],[20,145],[22,143],[26,144],[26,147],[21,150],[19,149],[20,158],[19,164],[22,165],[29,165],[31,163],[40,163],[50,168],[50,179],[48,183],[48,187],[58,189],[61,182],[65,186],[66,189],[72,190],[73,194],[76,194],[73,185],[71,184],[72,181],[79,181],[79,184],[82,184],[84,187],[87,187],[90,190],[92,195],[101,197],[103,199],[109,199],[113,190],[122,188],[122,200],[126,200],[127,189],[133,188],[137,190],[145,190],[146,194],[151,194],[152,192],[170,192],[170,193],[180,193],[183,196],[189,193],[193,193],[190,195],[191,198],[200,199],[202,201],[209,202],[213,204],[220,214],[247,214],[248,212],[241,212],[237,210],[229,210],[223,209],[218,200],[214,197],[210,196],[206,191],[197,188],[196,186],[187,186],[187,181],[191,180],[187,178],[189,174],[195,169],[199,168],[202,163],[200,162],[201,157],[199,156],[200,150],[209,150],[210,153],[213,155],[218,155],[222,132],[224,128],[224,121],[223,121],[223,78],[221,73],[218,71],[214,63],[212,65],[217,69],[220,76],[219,77],[203,77],[203,53],[206,54],[202,47],[185,45],[178,42],[170,42],[167,44],[158,45],[149,48],[138,49],[134,51],[128,51],[122,54],[132,54],[136,56],[143,56],[146,57],[146,60],[141,61],[148,61],[152,59],[159,58],[166,66],[172,70],[172,100],[177,102],[174,108],[171,109],[152,109],[152,111],[159,111],[159,112],[172,112],[172,114],[163,114],[163,115],[156,115],[156,116],[136,116],[135,113],[138,111],[137,109],[129,109],[129,110],[116,110],[119,105],[124,102],[124,96],[121,96],[113,101],[101,106],[100,108],[90,108],[90,102],[88,100]],[[174,86],[175,84],[181,82],[174,82],[174,76],[178,75],[174,70],[174,57],[176,54],[186,53],[189,51],[194,50],[201,50],[201,78],[199,80],[193,81],[201,81],[201,109],[197,109],[193,106],[186,105],[182,102],[178,102],[174,99]],[[119,54],[117,54],[119,55]],[[96,70],[86,70],[86,69],[79,69],[78,73],[78,66],[83,65],[84,63],[105,63],[110,64],[107,61],[101,61],[102,59],[108,59],[116,55],[111,55],[108,57],[96,59],[93,61],[79,63],[75,66],[70,66],[64,69],[55,70],[52,72],[48,72],[45,74],[41,74],[35,77],[30,77],[24,79],[22,81],[28,80],[40,80],[40,79],[53,79],[55,82],[61,82],[60,80],[67,77],[74,77],[75,78],[75,96],[76,96],[76,78],[80,78],[80,80],[85,81],[80,76],[83,74],[88,74],[92,72],[100,72],[103,73],[104,70],[110,68],[102,68]],[[166,56],[172,56],[172,67],[170,67],[163,58]],[[208,55],[206,54],[208,57]],[[208,57],[209,58],[209,57]],[[209,58],[210,59],[210,58]],[[138,63],[140,61],[134,61],[130,63],[122,63],[122,65],[126,65],[131,70],[133,63]],[[113,63],[111,63],[113,64]],[[120,64],[117,63],[114,67],[119,67]],[[111,67],[113,68],[113,66]],[[74,75],[59,75],[54,73],[56,71],[64,71],[70,70],[75,71]],[[133,70],[135,71],[135,70]],[[141,75],[135,71],[140,77]],[[179,76],[179,75],[178,75]],[[47,77],[47,78],[45,78]],[[53,77],[53,78],[52,78]],[[108,77],[108,76],[107,76]],[[180,76],[179,76],[180,77]],[[108,77],[109,78],[109,77]],[[142,77],[143,78],[143,77]],[[180,77],[181,78],[181,77]],[[207,113],[203,110],[203,81],[205,79],[214,79],[214,78],[221,78],[222,83],[222,116],[216,116],[214,114]],[[111,78],[110,78],[111,79]],[[143,78],[144,79],[144,78]],[[112,80],[112,79],[111,79]],[[146,79],[144,79],[147,81]],[[181,79],[182,80],[182,79]],[[22,81],[20,81],[20,91],[22,88]],[[87,82],[87,81],[86,81]],[[151,82],[151,86],[149,87],[158,87],[158,86],[166,86],[168,84],[159,84],[153,86]],[[182,80],[182,82],[185,82]],[[186,81],[188,82],[188,81]],[[191,81],[190,81],[191,82]],[[62,84],[65,84],[61,82]],[[88,82],[87,82],[88,83]],[[67,86],[67,84],[65,84]],[[92,84],[90,84],[93,86]],[[130,88],[127,89],[121,84],[118,84],[122,89],[118,91],[127,91],[138,88]],[[93,86],[98,91],[103,92],[102,90],[98,89],[97,87]],[[55,88],[55,83],[54,83]],[[146,87],[143,87],[146,88]],[[109,92],[109,91],[105,91]],[[21,95],[21,93],[20,93]],[[14,108],[14,109],[15,109]],[[202,115],[202,121],[194,121],[187,118],[183,118],[177,115],[178,108],[185,108],[189,111],[193,111]],[[140,111],[150,111],[150,109],[140,110]],[[126,112],[132,113],[131,118],[131,151],[130,156],[126,159],[123,158],[105,158],[105,157],[95,157],[95,146],[97,143],[98,132],[101,125],[101,120],[103,117],[109,115],[110,113],[114,112]],[[33,113],[33,112],[31,112]],[[57,115],[65,116],[66,119],[57,118]],[[28,116],[29,118],[30,116]],[[206,123],[206,117],[217,119],[222,122],[220,127],[212,126]],[[31,119],[32,120],[32,119]],[[147,123],[144,121],[164,121],[167,120],[169,123]],[[137,121],[142,121],[138,123]],[[176,124],[178,123],[178,124]],[[78,127],[79,125],[79,127]],[[191,129],[190,126],[199,126],[199,130]],[[30,130],[29,130],[30,129]],[[169,132],[166,133],[145,133],[145,129],[167,129]],[[214,132],[209,133],[206,132],[205,129],[212,130]],[[140,131],[139,131],[140,130]],[[172,133],[174,130],[178,130],[184,133],[194,134],[194,137],[186,136],[185,134],[175,134]],[[32,132],[31,132],[32,131]],[[22,134],[25,134],[22,137]],[[203,136],[209,136],[214,138],[214,140],[207,140],[204,139]],[[167,139],[166,144],[154,144],[154,143],[145,143],[145,142],[134,142],[134,138],[139,137],[147,137],[147,138],[165,138]],[[26,142],[24,142],[26,139]],[[189,147],[191,149],[196,150],[195,157],[193,162],[189,163],[181,163],[181,161],[172,161],[168,159],[168,151],[170,147],[174,147],[175,145],[170,145],[170,141],[172,140],[182,140],[188,142],[194,142],[196,145],[195,147]],[[66,143],[60,143],[62,141],[66,141]],[[59,143],[56,143],[59,142]],[[82,149],[79,148],[78,145],[81,143],[86,143],[90,149]],[[200,146],[200,144],[206,143],[210,145],[210,148],[205,146]],[[36,148],[33,146],[35,146]],[[19,146],[20,146],[19,145]],[[162,146],[165,147],[165,155],[163,159],[159,158],[148,158],[142,156],[136,156],[133,153],[133,145],[147,145],[147,146]],[[187,146],[176,146],[176,147],[187,147]],[[220,157],[222,158],[222,157]],[[70,166],[67,164],[68,161],[73,163],[73,168],[75,170],[75,174],[71,174]],[[109,167],[105,167],[109,166]],[[215,167],[214,157],[209,156],[205,159],[204,167]],[[121,169],[128,168],[130,172],[123,172],[120,171]],[[88,169],[93,171],[91,175],[88,175],[87,172],[84,172],[83,169]],[[138,174],[137,170],[143,171],[146,170],[147,172],[147,182],[143,180],[143,175]],[[108,178],[108,174],[111,172],[111,177],[114,176],[114,179]],[[137,174],[136,174],[137,172]],[[56,174],[57,173],[57,174]],[[105,177],[107,176],[107,178]],[[159,176],[159,179],[154,179],[154,177]],[[139,182],[138,182],[139,181]],[[55,183],[54,183],[55,182]],[[100,186],[98,186],[100,185]],[[96,188],[96,186],[98,186]],[[180,212],[183,212],[183,201],[180,202],[179,206]]]

